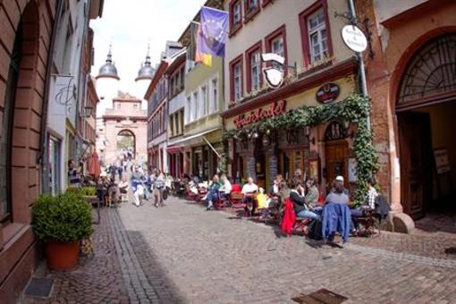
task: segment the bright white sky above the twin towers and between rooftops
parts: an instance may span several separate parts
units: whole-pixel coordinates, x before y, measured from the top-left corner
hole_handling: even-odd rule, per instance
[[[140,95],[135,78],[148,43],[152,65],[159,62],[167,40],[177,40],[205,0],[105,0],[102,18],[90,22],[94,30],[95,63],[92,75],[106,61],[109,44],[121,78],[119,89]],[[135,92],[136,90],[136,92]]]

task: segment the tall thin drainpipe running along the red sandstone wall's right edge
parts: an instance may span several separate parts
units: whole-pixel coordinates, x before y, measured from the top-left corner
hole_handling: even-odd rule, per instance
[[[39,154],[37,156],[37,164],[42,166],[41,170],[41,191],[45,192],[49,190],[49,179],[47,176],[47,157],[44,157],[46,152],[46,139],[47,139],[47,108],[49,106],[49,87],[52,74],[52,66],[54,61],[55,53],[55,39],[57,37],[57,25],[60,24],[63,13],[63,0],[57,0],[55,4],[55,20],[54,26],[52,29],[51,44],[49,46],[49,53],[47,55],[47,65],[46,65],[46,85],[44,89],[44,100],[43,100],[43,113],[41,116],[41,126],[39,134]]]

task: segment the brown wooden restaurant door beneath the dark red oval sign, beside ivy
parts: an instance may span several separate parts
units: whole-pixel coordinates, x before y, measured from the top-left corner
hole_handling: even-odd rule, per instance
[[[345,140],[328,141],[325,144],[326,156],[326,190],[331,189],[337,175],[342,175],[345,188],[348,187],[347,161],[349,156],[349,144]]]

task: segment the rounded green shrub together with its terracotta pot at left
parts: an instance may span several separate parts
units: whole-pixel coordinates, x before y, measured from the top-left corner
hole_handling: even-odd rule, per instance
[[[80,193],[38,197],[32,208],[33,231],[45,243],[47,266],[72,270],[78,265],[80,240],[92,233],[91,207]]]

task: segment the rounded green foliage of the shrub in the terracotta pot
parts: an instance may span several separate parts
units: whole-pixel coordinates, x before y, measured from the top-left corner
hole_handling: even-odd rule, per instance
[[[78,241],[92,233],[92,211],[80,194],[67,191],[38,197],[32,207],[33,231],[40,241]]]

